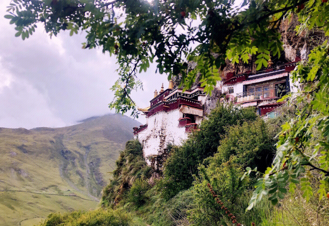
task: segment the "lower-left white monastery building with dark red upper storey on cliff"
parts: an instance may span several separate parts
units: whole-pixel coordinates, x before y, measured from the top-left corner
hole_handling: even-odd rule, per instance
[[[163,88],[163,87],[162,87]],[[134,127],[135,139],[143,147],[143,155],[150,163],[150,157],[163,153],[168,143],[180,145],[203,119],[203,104],[206,96],[203,88],[193,87],[182,92],[169,88],[155,92],[147,108],[139,108],[146,115],[146,124]]]

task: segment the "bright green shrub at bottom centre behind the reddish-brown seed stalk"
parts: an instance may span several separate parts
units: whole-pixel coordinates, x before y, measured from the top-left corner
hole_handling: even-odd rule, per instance
[[[235,206],[249,186],[248,178],[240,180],[244,169],[236,162],[237,157],[234,156],[216,167],[199,167],[201,180],[196,180],[191,189],[195,203],[188,212],[191,225],[226,225],[225,220],[229,219],[225,214],[227,209],[221,209],[221,205],[216,203],[215,198],[209,192],[208,183],[212,184],[214,192],[225,207],[235,214]]]

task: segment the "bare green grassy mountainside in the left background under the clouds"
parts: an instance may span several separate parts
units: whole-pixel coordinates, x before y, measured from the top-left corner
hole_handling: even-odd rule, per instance
[[[107,172],[138,125],[113,114],[63,128],[0,128],[1,225],[96,208]]]

